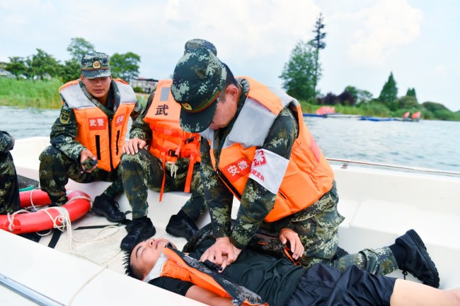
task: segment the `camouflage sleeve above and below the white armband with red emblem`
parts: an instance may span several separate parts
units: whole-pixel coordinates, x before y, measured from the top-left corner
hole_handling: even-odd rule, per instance
[[[297,137],[297,121],[289,108],[284,108],[275,119],[263,148],[289,159],[292,145]],[[241,204],[230,241],[238,249],[243,249],[260,227],[265,216],[275,204],[276,194],[252,179],[248,179],[241,195]]]

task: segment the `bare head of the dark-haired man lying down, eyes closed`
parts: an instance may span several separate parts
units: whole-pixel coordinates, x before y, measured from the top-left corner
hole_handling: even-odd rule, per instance
[[[144,279],[154,268],[168,243],[175,247],[172,242],[164,238],[151,238],[139,242],[132,250],[125,253],[125,273],[137,279]]]

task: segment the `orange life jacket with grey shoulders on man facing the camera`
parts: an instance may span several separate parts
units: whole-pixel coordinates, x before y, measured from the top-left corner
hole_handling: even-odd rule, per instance
[[[59,93],[71,109],[74,110],[78,134],[75,137],[98,159],[97,167],[112,171],[120,164],[122,146],[130,114],[137,98],[132,87],[121,79],[114,79],[120,91],[120,105],[109,121],[107,115],[89,100],[79,86],[79,81],[70,81]]]

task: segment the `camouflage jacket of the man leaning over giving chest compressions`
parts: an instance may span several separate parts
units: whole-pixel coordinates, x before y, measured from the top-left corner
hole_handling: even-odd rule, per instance
[[[214,139],[219,141],[219,148],[222,148],[222,143],[231,131],[248,94],[248,82],[244,79],[238,79],[238,82],[241,83],[243,93],[240,100],[238,100],[236,115],[229,126],[214,131]],[[289,106],[284,107],[272,124],[262,148],[289,159],[298,130],[296,116]],[[200,170],[205,189],[205,199],[209,206],[209,213],[212,220],[214,237],[229,237],[235,247],[243,249],[263,223],[265,216],[273,208],[276,194],[272,194],[265,187],[258,184],[258,182],[248,179],[244,192],[241,195],[238,216],[232,228],[231,205],[233,194],[231,194],[224,182],[217,176],[209,156],[209,149],[209,143],[202,139],[200,146],[202,158]],[[219,160],[219,155],[220,149],[214,151],[216,161]]]

